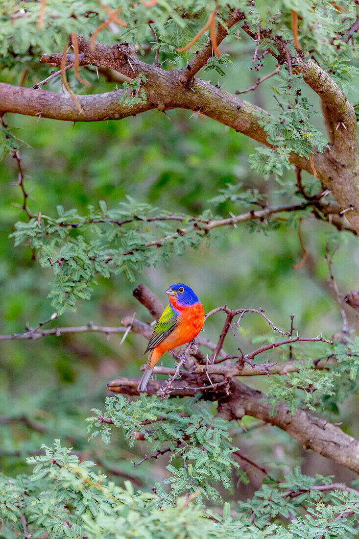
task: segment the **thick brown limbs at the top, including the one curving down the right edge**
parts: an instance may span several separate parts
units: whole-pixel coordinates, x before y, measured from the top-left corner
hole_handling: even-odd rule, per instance
[[[244,30],[252,35],[244,25]],[[300,53],[288,59],[288,47],[282,38],[271,36],[271,32],[260,30],[260,35],[272,39],[278,49],[273,55],[279,63],[287,62],[293,66],[294,73],[303,75],[303,80],[321,98],[326,106],[330,119],[335,125],[334,147],[321,154],[313,152],[314,168],[320,181],[332,190],[340,209],[349,210],[346,218],[359,231],[359,161],[356,144],[356,120],[354,109],[340,88],[313,60],[305,61]],[[140,73],[146,75],[144,90],[146,103],[137,103],[131,107],[119,105],[122,90],[98,95],[78,95],[81,112],[78,112],[72,99],[67,94],[59,94],[29,88],[0,84],[0,111],[13,112],[43,118],[71,121],[119,120],[126,116],[136,115],[157,108],[160,111],[183,108],[198,111],[224,125],[232,127],[252,139],[270,146],[263,121],[270,116],[263,109],[252,105],[230,93],[224,92],[203,80],[194,80],[190,86],[181,81],[182,70],[164,71],[157,65],[146,64],[129,56],[127,45],[109,47],[95,42],[91,50],[89,42],[78,37],[80,63],[94,64],[111,68],[122,75],[134,78]],[[272,51],[273,52],[273,51]],[[61,55],[58,55],[61,56]],[[44,61],[52,59],[60,63],[57,55],[50,55]],[[71,57],[69,58],[72,59]],[[189,70],[187,70],[189,71]],[[303,156],[292,154],[289,160],[303,170],[313,174],[310,161]]]

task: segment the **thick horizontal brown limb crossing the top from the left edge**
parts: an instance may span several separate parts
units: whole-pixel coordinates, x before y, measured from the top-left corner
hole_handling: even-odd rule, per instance
[[[257,142],[269,145],[267,133],[260,122],[270,116],[260,107],[252,105],[243,99],[224,92],[203,80],[195,80],[190,88],[185,88],[181,82],[182,70],[168,72],[154,64],[146,64],[134,57],[129,57],[128,46],[114,45],[109,47],[95,42],[91,50],[89,42],[82,36],[78,37],[79,50],[85,54],[88,64],[107,66],[115,71],[134,78],[139,74],[146,75],[147,83],[144,89],[147,103],[132,107],[120,106],[118,100],[123,91],[117,90],[106,94],[78,95],[81,113],[72,103],[67,94],[37,91],[29,95],[29,89],[12,85],[0,84],[0,111],[15,112],[27,115],[42,115],[43,118],[72,121],[119,120],[129,115],[157,108],[170,110],[184,108],[201,110],[201,114],[213,120],[228,125],[239,133],[251,137]],[[47,55],[44,61],[60,64],[56,54]],[[70,57],[72,59],[72,57]],[[84,65],[84,58],[81,57]],[[312,174],[309,161],[304,157],[292,155],[291,161]],[[315,168],[320,174],[326,168],[326,159],[322,154],[315,155]]]

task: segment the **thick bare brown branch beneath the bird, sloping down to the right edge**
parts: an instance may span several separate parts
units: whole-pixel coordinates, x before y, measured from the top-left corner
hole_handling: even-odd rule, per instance
[[[207,380],[205,389],[203,389],[205,378],[202,376],[191,381],[175,380],[171,395],[191,396],[201,391],[204,399],[218,400],[218,412],[224,419],[237,420],[247,415],[263,420],[265,423],[286,431],[305,449],[311,449],[359,473],[359,441],[344,433],[339,427],[305,410],[298,409],[295,414],[292,414],[284,403],[278,403],[273,414],[271,403],[261,391],[249,388],[233,379],[230,379],[228,388],[226,381],[223,385],[219,385],[217,377],[215,375],[212,377],[215,382],[214,387],[211,388]],[[107,387],[114,393],[138,395],[138,382],[138,379],[117,378],[109,382]],[[151,380],[147,392],[149,395],[155,395],[164,385],[163,380]]]

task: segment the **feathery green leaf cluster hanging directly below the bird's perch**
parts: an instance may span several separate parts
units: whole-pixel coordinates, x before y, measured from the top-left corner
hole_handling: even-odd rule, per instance
[[[101,414],[99,410],[93,410]],[[167,493],[161,483],[156,483],[156,492],[162,502],[174,503],[184,493],[195,495],[198,500],[219,496],[213,480],[230,488],[232,468],[239,468],[231,458],[233,447],[227,429],[227,421],[213,416],[208,405],[196,398],[171,398],[161,400],[157,396],[140,398],[130,403],[125,397],[106,398],[106,417],[112,419],[116,427],[124,430],[130,445],[136,438],[143,437],[151,446],[151,452],[170,453],[167,470],[171,476],[164,480],[169,485]],[[143,418],[146,421],[143,423]],[[102,423],[102,430],[96,429],[97,417],[88,418],[92,437],[100,433],[105,443],[109,443],[110,428]],[[142,435],[142,436],[141,436]]]

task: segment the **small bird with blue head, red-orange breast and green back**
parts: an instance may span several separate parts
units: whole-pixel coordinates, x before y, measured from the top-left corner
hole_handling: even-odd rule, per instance
[[[177,282],[165,293],[169,295],[170,304],[164,309],[149,340],[145,354],[148,350],[150,354],[137,391],[146,391],[155,364],[165,352],[192,341],[203,328],[204,308],[192,288]]]

